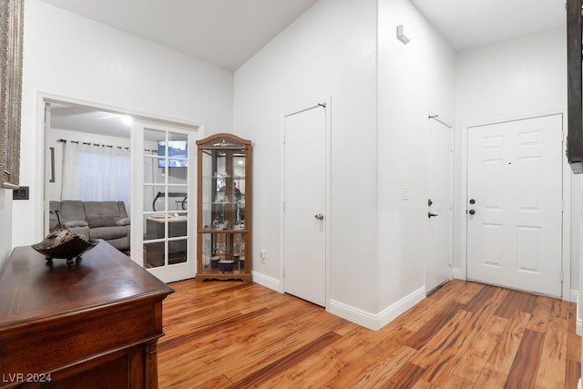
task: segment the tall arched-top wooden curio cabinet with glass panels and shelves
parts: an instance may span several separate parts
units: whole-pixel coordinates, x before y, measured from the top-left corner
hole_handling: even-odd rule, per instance
[[[251,141],[215,134],[197,145],[196,279],[251,281]]]

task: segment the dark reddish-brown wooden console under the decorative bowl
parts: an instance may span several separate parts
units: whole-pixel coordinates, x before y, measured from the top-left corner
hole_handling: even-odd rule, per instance
[[[15,248],[0,271],[0,388],[157,388],[172,292],[105,241],[68,267]]]

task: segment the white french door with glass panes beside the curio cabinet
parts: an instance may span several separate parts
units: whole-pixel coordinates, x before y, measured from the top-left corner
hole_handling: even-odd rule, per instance
[[[140,121],[132,132],[131,259],[163,282],[195,275],[196,135]]]

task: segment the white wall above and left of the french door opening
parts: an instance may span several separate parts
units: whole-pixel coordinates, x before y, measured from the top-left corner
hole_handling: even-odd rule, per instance
[[[43,136],[37,93],[232,131],[232,73],[39,0],[25,8],[21,184],[15,246],[43,237]],[[9,228],[9,225],[2,227]]]

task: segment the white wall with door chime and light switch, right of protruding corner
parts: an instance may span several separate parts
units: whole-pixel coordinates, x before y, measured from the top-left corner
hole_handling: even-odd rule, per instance
[[[396,39],[404,26],[407,45]],[[421,289],[427,219],[428,112],[454,121],[455,51],[407,0],[379,1],[380,309]],[[402,187],[409,200],[402,200]]]

